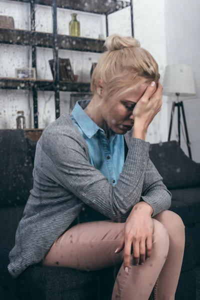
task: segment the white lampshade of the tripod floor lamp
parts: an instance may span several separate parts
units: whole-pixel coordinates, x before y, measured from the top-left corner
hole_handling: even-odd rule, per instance
[[[194,77],[192,69],[186,64],[167,65],[163,77],[163,94],[174,96],[195,95]]]

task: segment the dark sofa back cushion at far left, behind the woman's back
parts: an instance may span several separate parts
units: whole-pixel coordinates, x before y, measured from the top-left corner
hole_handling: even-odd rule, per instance
[[[25,204],[33,164],[21,129],[0,129],[0,207]]]

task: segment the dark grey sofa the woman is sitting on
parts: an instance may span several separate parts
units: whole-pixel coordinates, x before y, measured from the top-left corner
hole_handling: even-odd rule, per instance
[[[7,271],[8,253],[32,187],[35,145],[24,137],[23,130],[0,130],[0,299],[108,300],[120,266],[83,272],[37,264],[16,279]],[[200,263],[200,166],[184,155],[175,141],[152,144],[149,154],[172,192],[170,209],[185,224],[185,251],[175,299],[195,300],[194,268]]]

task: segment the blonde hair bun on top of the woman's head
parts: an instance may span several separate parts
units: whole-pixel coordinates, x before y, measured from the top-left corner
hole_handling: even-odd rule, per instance
[[[109,35],[104,43],[107,51],[120,50],[123,48],[140,47],[140,43],[132,36]]]

